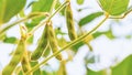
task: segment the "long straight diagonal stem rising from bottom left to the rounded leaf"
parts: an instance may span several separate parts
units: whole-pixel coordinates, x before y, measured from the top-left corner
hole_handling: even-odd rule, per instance
[[[31,72],[36,71],[41,65],[45,64],[48,60],[51,60],[52,57],[56,56],[57,54],[59,54],[62,51],[65,51],[66,49],[77,44],[78,42],[80,42],[81,40],[86,39],[89,34],[91,34],[94,31],[96,31],[100,25],[102,25],[102,23],[109,18],[109,15],[106,15],[106,18],[99,23],[97,24],[97,26],[95,26],[91,31],[89,31],[88,33],[84,34],[82,36],[74,40],[73,42],[70,42],[69,44],[67,44],[66,46],[64,46],[63,49],[61,49],[58,52],[55,52],[53,55],[46,57],[42,63],[37,64],[36,66],[34,66],[30,72],[28,72],[25,75],[28,75]]]

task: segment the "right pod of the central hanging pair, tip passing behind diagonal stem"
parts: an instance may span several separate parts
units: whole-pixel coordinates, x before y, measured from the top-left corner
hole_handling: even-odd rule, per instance
[[[47,22],[46,25],[48,26],[47,31],[48,31],[50,45],[51,45],[51,49],[52,49],[53,53],[55,53],[55,52],[58,51],[58,45],[57,45],[57,40],[56,40],[55,33],[54,33],[54,30],[53,30],[52,22]],[[62,55],[58,54],[56,56],[56,58],[61,61]]]

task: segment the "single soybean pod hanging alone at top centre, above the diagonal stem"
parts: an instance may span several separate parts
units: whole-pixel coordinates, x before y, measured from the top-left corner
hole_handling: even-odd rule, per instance
[[[66,7],[65,15],[66,15],[66,24],[67,24],[67,29],[68,29],[68,35],[69,35],[69,39],[73,41],[77,38],[77,34],[75,31],[75,23],[74,23],[70,3]]]

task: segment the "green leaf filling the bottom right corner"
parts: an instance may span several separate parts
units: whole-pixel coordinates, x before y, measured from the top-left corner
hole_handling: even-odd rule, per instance
[[[112,75],[132,75],[132,55],[128,56],[120,64],[112,67]]]

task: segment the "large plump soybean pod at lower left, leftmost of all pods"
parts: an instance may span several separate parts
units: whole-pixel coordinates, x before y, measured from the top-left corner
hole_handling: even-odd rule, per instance
[[[12,75],[16,65],[22,61],[25,50],[25,39],[21,39],[10,63],[3,68],[2,75]]]

